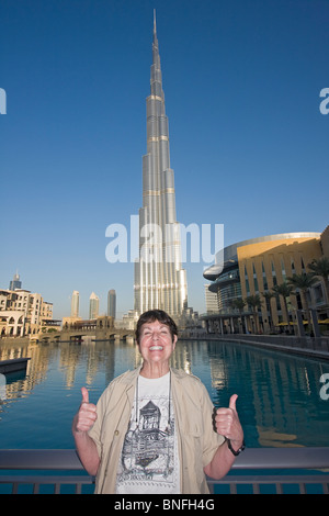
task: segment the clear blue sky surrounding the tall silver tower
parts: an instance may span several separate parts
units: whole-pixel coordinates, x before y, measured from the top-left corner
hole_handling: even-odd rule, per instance
[[[225,245],[329,223],[328,0],[0,0],[0,287],[18,269],[55,318],[73,290],[82,317],[92,291],[134,305],[105,229],[143,204],[154,9],[178,221]]]

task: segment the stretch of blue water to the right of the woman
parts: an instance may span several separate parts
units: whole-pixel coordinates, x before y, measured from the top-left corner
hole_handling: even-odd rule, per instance
[[[329,446],[329,401],[319,395],[329,362],[214,341],[181,343],[175,355],[178,366],[188,363],[205,383],[215,406],[238,394],[249,446]]]

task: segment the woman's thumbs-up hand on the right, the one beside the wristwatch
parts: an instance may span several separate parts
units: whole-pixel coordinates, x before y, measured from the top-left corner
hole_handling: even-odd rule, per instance
[[[228,408],[217,408],[214,417],[215,428],[218,434],[225,436],[239,448],[243,441],[243,430],[237,413],[238,395],[232,394],[229,399]]]

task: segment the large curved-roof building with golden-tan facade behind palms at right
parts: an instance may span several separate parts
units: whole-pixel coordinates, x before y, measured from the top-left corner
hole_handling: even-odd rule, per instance
[[[329,226],[322,233],[269,235],[226,247],[204,271],[204,278],[212,281],[208,290],[217,295],[218,310],[203,318],[219,333],[240,333],[242,318],[245,330],[270,333],[287,326],[287,317],[294,323],[297,312],[306,323],[309,310],[316,311],[319,322],[327,321],[329,300],[322,278],[317,277],[306,298],[295,289],[286,298],[286,306],[282,295],[264,295],[287,278],[309,272],[308,265],[324,256],[329,257]],[[247,304],[240,310],[234,305],[236,300],[256,295],[261,299],[257,316]]]

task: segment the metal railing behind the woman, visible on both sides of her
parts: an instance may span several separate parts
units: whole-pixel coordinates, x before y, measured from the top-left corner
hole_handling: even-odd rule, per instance
[[[92,493],[93,482],[75,450],[0,450],[0,493]],[[329,494],[329,447],[247,448],[224,479],[208,479],[208,485],[215,494]]]

